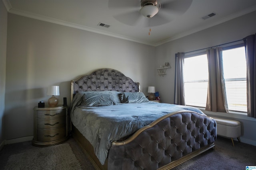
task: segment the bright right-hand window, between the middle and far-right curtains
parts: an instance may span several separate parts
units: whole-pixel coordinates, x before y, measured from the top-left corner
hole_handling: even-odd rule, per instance
[[[247,112],[245,49],[224,50],[222,58],[228,109]]]

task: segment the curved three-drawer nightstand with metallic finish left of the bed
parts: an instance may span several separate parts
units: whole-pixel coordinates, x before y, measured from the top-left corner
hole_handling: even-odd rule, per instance
[[[68,139],[68,106],[34,107],[35,146],[49,146]]]

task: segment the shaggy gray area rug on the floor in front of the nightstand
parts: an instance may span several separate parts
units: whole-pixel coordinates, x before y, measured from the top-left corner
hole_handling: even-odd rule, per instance
[[[4,170],[81,170],[68,143],[34,148],[8,158]]]

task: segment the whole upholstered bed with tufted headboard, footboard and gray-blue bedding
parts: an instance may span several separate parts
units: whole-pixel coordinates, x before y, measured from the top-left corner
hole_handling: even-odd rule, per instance
[[[216,121],[195,107],[148,101],[111,68],[71,81],[72,135],[96,169],[167,170],[214,148]]]

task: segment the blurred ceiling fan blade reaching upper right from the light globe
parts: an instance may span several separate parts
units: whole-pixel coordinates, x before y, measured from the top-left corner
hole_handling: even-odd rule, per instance
[[[188,10],[192,4],[192,0],[162,0],[160,4],[160,10],[169,12],[174,16],[180,16]]]

